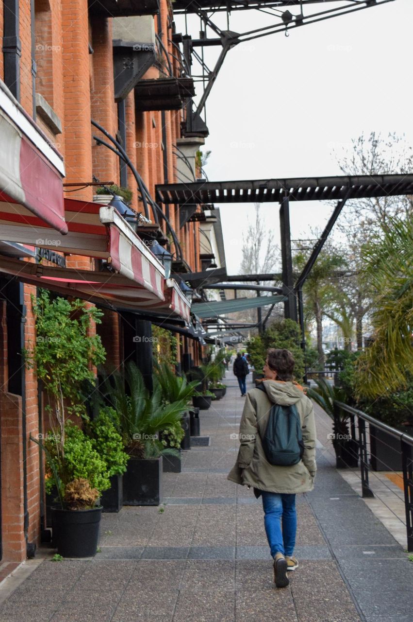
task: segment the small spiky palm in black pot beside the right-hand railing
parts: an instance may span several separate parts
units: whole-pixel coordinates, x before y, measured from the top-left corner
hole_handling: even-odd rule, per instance
[[[315,380],[317,388],[306,389],[307,396],[314,401],[333,420],[332,443],[335,451],[337,468],[358,465],[358,442],[351,438],[348,430],[349,415],[335,407],[334,402],[345,402],[345,391],[334,387],[324,378]]]

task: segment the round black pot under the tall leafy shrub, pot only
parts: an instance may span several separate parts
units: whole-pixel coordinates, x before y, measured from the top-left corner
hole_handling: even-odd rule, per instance
[[[102,508],[52,508],[53,547],[62,557],[93,557],[99,542]]]

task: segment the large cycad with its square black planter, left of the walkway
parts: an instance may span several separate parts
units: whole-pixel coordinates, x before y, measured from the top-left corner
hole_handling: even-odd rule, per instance
[[[162,457],[179,455],[176,448],[164,447],[160,435],[168,427],[180,424],[186,404],[184,401],[163,403],[156,376],[151,395],[142,373],[132,362],[124,372],[106,376],[102,389],[117,412],[120,435],[130,458],[123,479],[124,505],[159,505]]]

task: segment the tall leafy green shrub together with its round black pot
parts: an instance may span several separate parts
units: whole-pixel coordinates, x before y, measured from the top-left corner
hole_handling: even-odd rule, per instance
[[[50,300],[45,290],[32,297],[32,305],[37,338],[25,361],[42,381],[49,425],[45,438],[30,439],[45,452],[48,491],[53,485],[57,490],[53,542],[64,557],[90,557],[96,554],[101,518],[96,501],[109,488],[108,469],[70,418],[81,422],[87,417],[81,388],[94,384],[92,366],[105,359],[99,336],[89,330],[93,322],[101,322],[102,312],[81,300]]]

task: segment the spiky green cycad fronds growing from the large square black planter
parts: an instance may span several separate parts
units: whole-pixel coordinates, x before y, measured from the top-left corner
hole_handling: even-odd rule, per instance
[[[127,363],[125,371],[104,377],[102,390],[119,417],[120,434],[127,453],[135,458],[156,458],[178,455],[175,449],[163,448],[159,435],[179,424],[186,411],[186,400],[165,404],[157,377],[153,392],[145,387],[142,373],[135,363]]]

